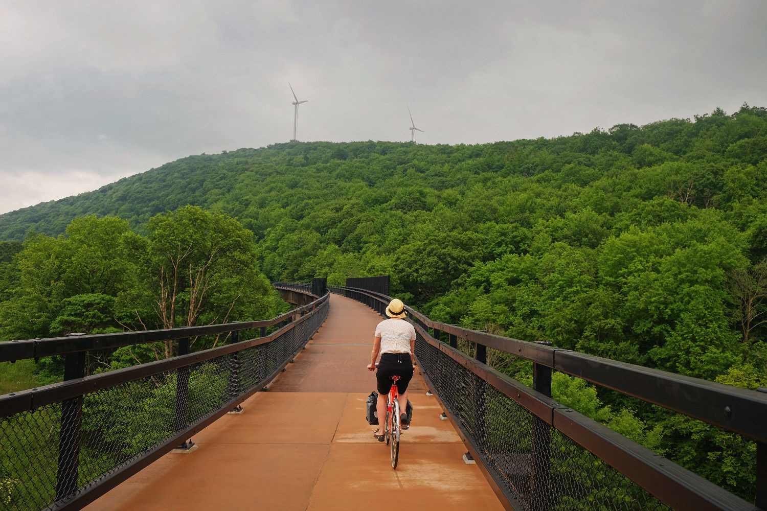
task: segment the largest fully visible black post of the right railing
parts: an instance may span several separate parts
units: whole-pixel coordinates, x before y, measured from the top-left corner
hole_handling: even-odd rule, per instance
[[[551,341],[536,341],[536,344],[551,346]],[[551,398],[551,368],[542,364],[532,365],[532,385],[536,391]],[[549,484],[551,480],[551,429],[538,417],[532,418],[530,493],[532,511],[547,511],[549,502]]]

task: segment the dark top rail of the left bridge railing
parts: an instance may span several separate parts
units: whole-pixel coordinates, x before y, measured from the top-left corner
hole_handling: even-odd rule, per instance
[[[51,355],[66,355],[67,353],[85,352],[92,349],[119,348],[145,344],[147,342],[170,341],[173,339],[186,339],[188,337],[209,336],[224,332],[275,326],[296,313],[311,310],[313,306],[327,300],[325,296],[315,296],[307,290],[301,293],[314,296],[317,300],[304,306],[276,316],[272,319],[260,321],[244,321],[237,323],[223,323],[209,326],[183,326],[175,329],[142,330],[138,332],[100,333],[90,336],[67,336],[51,337],[48,339],[28,339],[21,341],[0,342],[0,362],[12,362],[22,359],[38,359]]]

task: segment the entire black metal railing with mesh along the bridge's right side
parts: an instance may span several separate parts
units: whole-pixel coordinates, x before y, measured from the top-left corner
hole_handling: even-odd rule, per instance
[[[329,289],[382,316],[390,301],[370,290]],[[427,385],[509,509],[767,509],[767,395],[464,329],[407,310]],[[459,351],[458,339],[476,343],[476,355]],[[534,388],[486,365],[488,348],[533,362]],[[752,438],[756,505],[554,401],[552,370]]]

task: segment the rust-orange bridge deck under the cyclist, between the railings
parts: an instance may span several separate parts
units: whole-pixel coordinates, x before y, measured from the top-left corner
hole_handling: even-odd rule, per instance
[[[331,296],[307,349],[244,413],[225,415],[194,438],[197,450],[166,454],[85,509],[503,509],[476,465],[463,463],[463,444],[417,371],[413,426],[391,469],[388,447],[364,421],[378,321],[367,306]]]

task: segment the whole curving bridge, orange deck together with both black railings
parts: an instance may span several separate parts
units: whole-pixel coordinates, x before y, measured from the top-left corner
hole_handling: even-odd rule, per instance
[[[67,361],[65,382],[0,396],[0,509],[767,508],[767,395],[414,310],[416,414],[391,470],[363,420],[390,297],[351,283],[275,283],[301,306],[268,321],[0,344],[0,361]],[[189,353],[194,336],[229,340]],[[84,377],[89,350],[158,341],[178,355]],[[532,363],[533,388],[489,367],[492,350]],[[552,400],[552,371],[752,439],[756,503]]]

